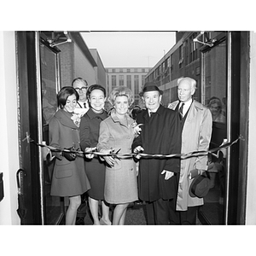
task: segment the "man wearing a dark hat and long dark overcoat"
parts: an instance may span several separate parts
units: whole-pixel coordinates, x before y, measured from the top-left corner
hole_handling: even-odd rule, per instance
[[[155,83],[146,83],[140,96],[147,109],[137,114],[137,124],[142,129],[134,139],[134,153],[176,154],[180,151],[178,115],[160,105],[163,91]],[[170,224],[170,202],[177,195],[179,158],[141,158],[139,161],[139,198],[146,202],[148,224]]]

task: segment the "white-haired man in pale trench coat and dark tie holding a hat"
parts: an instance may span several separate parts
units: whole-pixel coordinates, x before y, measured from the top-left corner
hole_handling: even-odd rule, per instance
[[[172,102],[168,106],[177,111],[181,117],[182,154],[207,150],[212,137],[212,114],[207,107],[192,98],[195,89],[195,79],[178,79],[179,101]],[[197,169],[198,173],[207,171],[207,154],[181,159],[177,203],[172,205],[175,211],[174,224],[195,224],[198,206],[203,205],[203,198],[189,195],[189,186],[193,181],[193,178],[189,178],[189,174],[193,169]]]

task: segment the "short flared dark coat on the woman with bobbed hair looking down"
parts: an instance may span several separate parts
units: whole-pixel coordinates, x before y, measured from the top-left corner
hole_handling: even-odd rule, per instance
[[[72,114],[59,109],[49,121],[49,146],[54,148],[72,148],[80,150],[79,127],[74,125]],[[84,171],[84,158],[78,156],[69,161],[61,153],[55,154],[55,166],[51,182],[50,195],[82,195],[90,189],[89,180]]]

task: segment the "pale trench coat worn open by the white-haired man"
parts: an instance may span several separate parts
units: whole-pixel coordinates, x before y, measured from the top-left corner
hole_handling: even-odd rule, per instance
[[[169,104],[168,108],[176,109],[177,102]],[[209,108],[195,100],[192,102],[182,131],[181,153],[208,150],[212,137],[212,113]],[[193,169],[207,170],[207,154],[193,156],[181,160],[180,177],[177,190],[177,211],[187,211],[188,207],[203,205],[202,198],[191,197],[189,186],[193,179],[189,179],[189,171]]]

